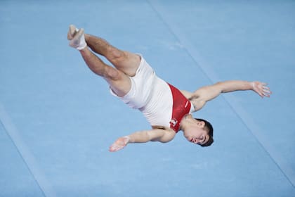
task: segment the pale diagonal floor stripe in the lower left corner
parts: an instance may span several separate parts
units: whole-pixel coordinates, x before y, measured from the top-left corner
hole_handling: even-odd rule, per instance
[[[25,142],[22,141],[22,137],[20,136],[18,129],[16,129],[11,118],[9,117],[8,113],[6,113],[6,110],[4,110],[4,106],[1,103],[0,122],[2,122],[6,133],[8,134],[8,136],[10,136],[13,144],[18,149],[18,152],[22,156],[22,159],[25,161],[25,164],[29,168],[29,171],[32,173],[41,191],[43,191],[45,196],[55,197],[56,194],[53,191],[53,187],[46,179],[46,176],[44,172],[42,172],[41,167],[39,167],[36,158],[34,158],[34,155],[31,153],[31,151],[29,151],[29,148],[27,147]]]

